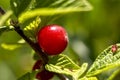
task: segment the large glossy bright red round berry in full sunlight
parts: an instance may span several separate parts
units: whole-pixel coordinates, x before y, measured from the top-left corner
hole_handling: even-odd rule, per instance
[[[48,55],[60,54],[68,44],[67,32],[59,25],[44,26],[38,32],[38,43]]]

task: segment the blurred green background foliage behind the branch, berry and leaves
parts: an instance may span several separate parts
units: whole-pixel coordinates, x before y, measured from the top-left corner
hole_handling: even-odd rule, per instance
[[[93,6],[92,11],[66,14],[51,22],[66,28],[69,46],[64,53],[80,64],[91,64],[107,46],[120,42],[120,0],[89,2]],[[0,6],[5,11],[9,10],[9,0],[0,0]],[[32,68],[33,51],[26,43],[19,44],[20,39],[14,31],[5,32],[0,36],[0,45],[5,43],[21,46],[14,51],[0,46],[0,80],[15,80]]]

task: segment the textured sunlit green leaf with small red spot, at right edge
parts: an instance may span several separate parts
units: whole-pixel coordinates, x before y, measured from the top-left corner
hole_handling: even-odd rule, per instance
[[[116,46],[116,48],[113,46]],[[116,51],[113,51],[115,49]],[[105,49],[92,64],[87,76],[94,76],[108,69],[120,66],[120,44],[109,46]]]

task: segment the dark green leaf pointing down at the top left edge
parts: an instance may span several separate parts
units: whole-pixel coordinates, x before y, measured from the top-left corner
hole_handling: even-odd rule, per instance
[[[25,11],[32,0],[10,0],[10,5],[16,16]]]

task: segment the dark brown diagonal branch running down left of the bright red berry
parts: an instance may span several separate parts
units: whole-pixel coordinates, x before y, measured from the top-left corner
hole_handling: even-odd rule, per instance
[[[32,49],[42,58],[43,65],[47,64],[48,56],[42,52],[41,48],[39,47],[38,43],[34,43],[30,40],[24,32],[20,29],[17,21],[11,20],[11,25],[14,27],[14,30],[32,47]]]

